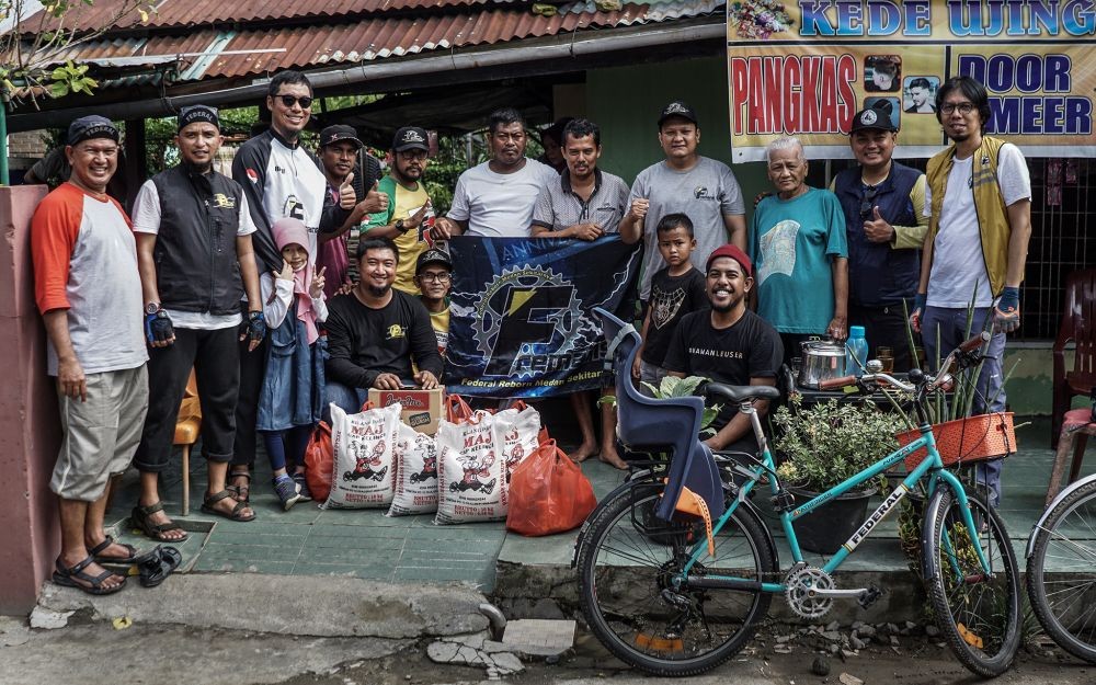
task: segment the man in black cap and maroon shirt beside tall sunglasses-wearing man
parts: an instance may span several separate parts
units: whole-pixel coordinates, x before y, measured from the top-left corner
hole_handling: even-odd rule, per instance
[[[342,226],[333,232],[319,236],[320,253],[316,256],[316,266],[327,270],[323,294],[328,298],[334,297],[340,288],[353,285],[355,281],[353,276],[356,275],[356,270],[351,269],[353,264],[350,250],[357,246],[357,227],[368,215],[388,208],[388,196],[377,192],[376,187],[380,178],[380,162],[364,151],[364,147],[352,126],[335,124],[320,132],[320,168],[328,179],[324,204],[330,206],[339,203],[339,189],[347,178],[353,179],[355,189],[369,189],[368,193],[363,191],[365,199],[354,205]],[[354,238],[353,246],[350,244],[351,238]]]

